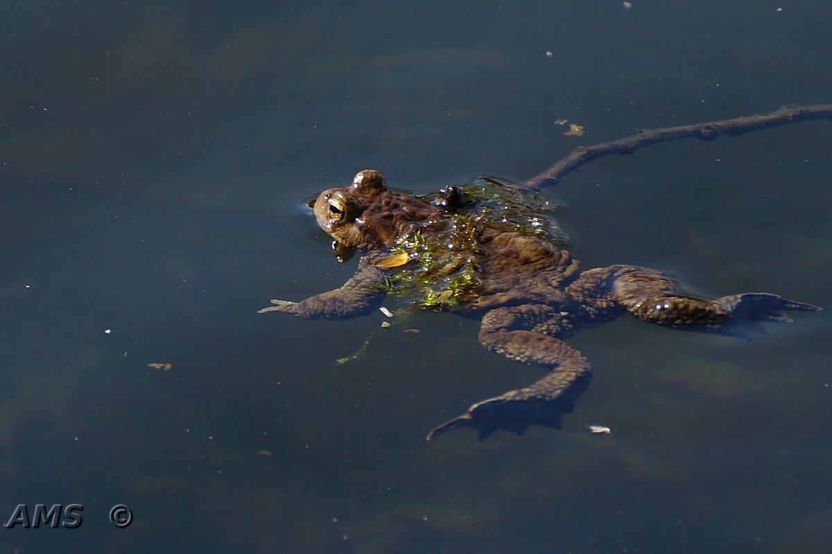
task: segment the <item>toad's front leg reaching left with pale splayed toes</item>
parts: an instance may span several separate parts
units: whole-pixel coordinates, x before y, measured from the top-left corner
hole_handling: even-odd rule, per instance
[[[300,302],[272,300],[273,306],[258,310],[257,313],[280,311],[305,319],[349,319],[366,316],[374,311],[381,306],[386,293],[384,274],[365,258],[361,258],[353,277],[341,287]]]

